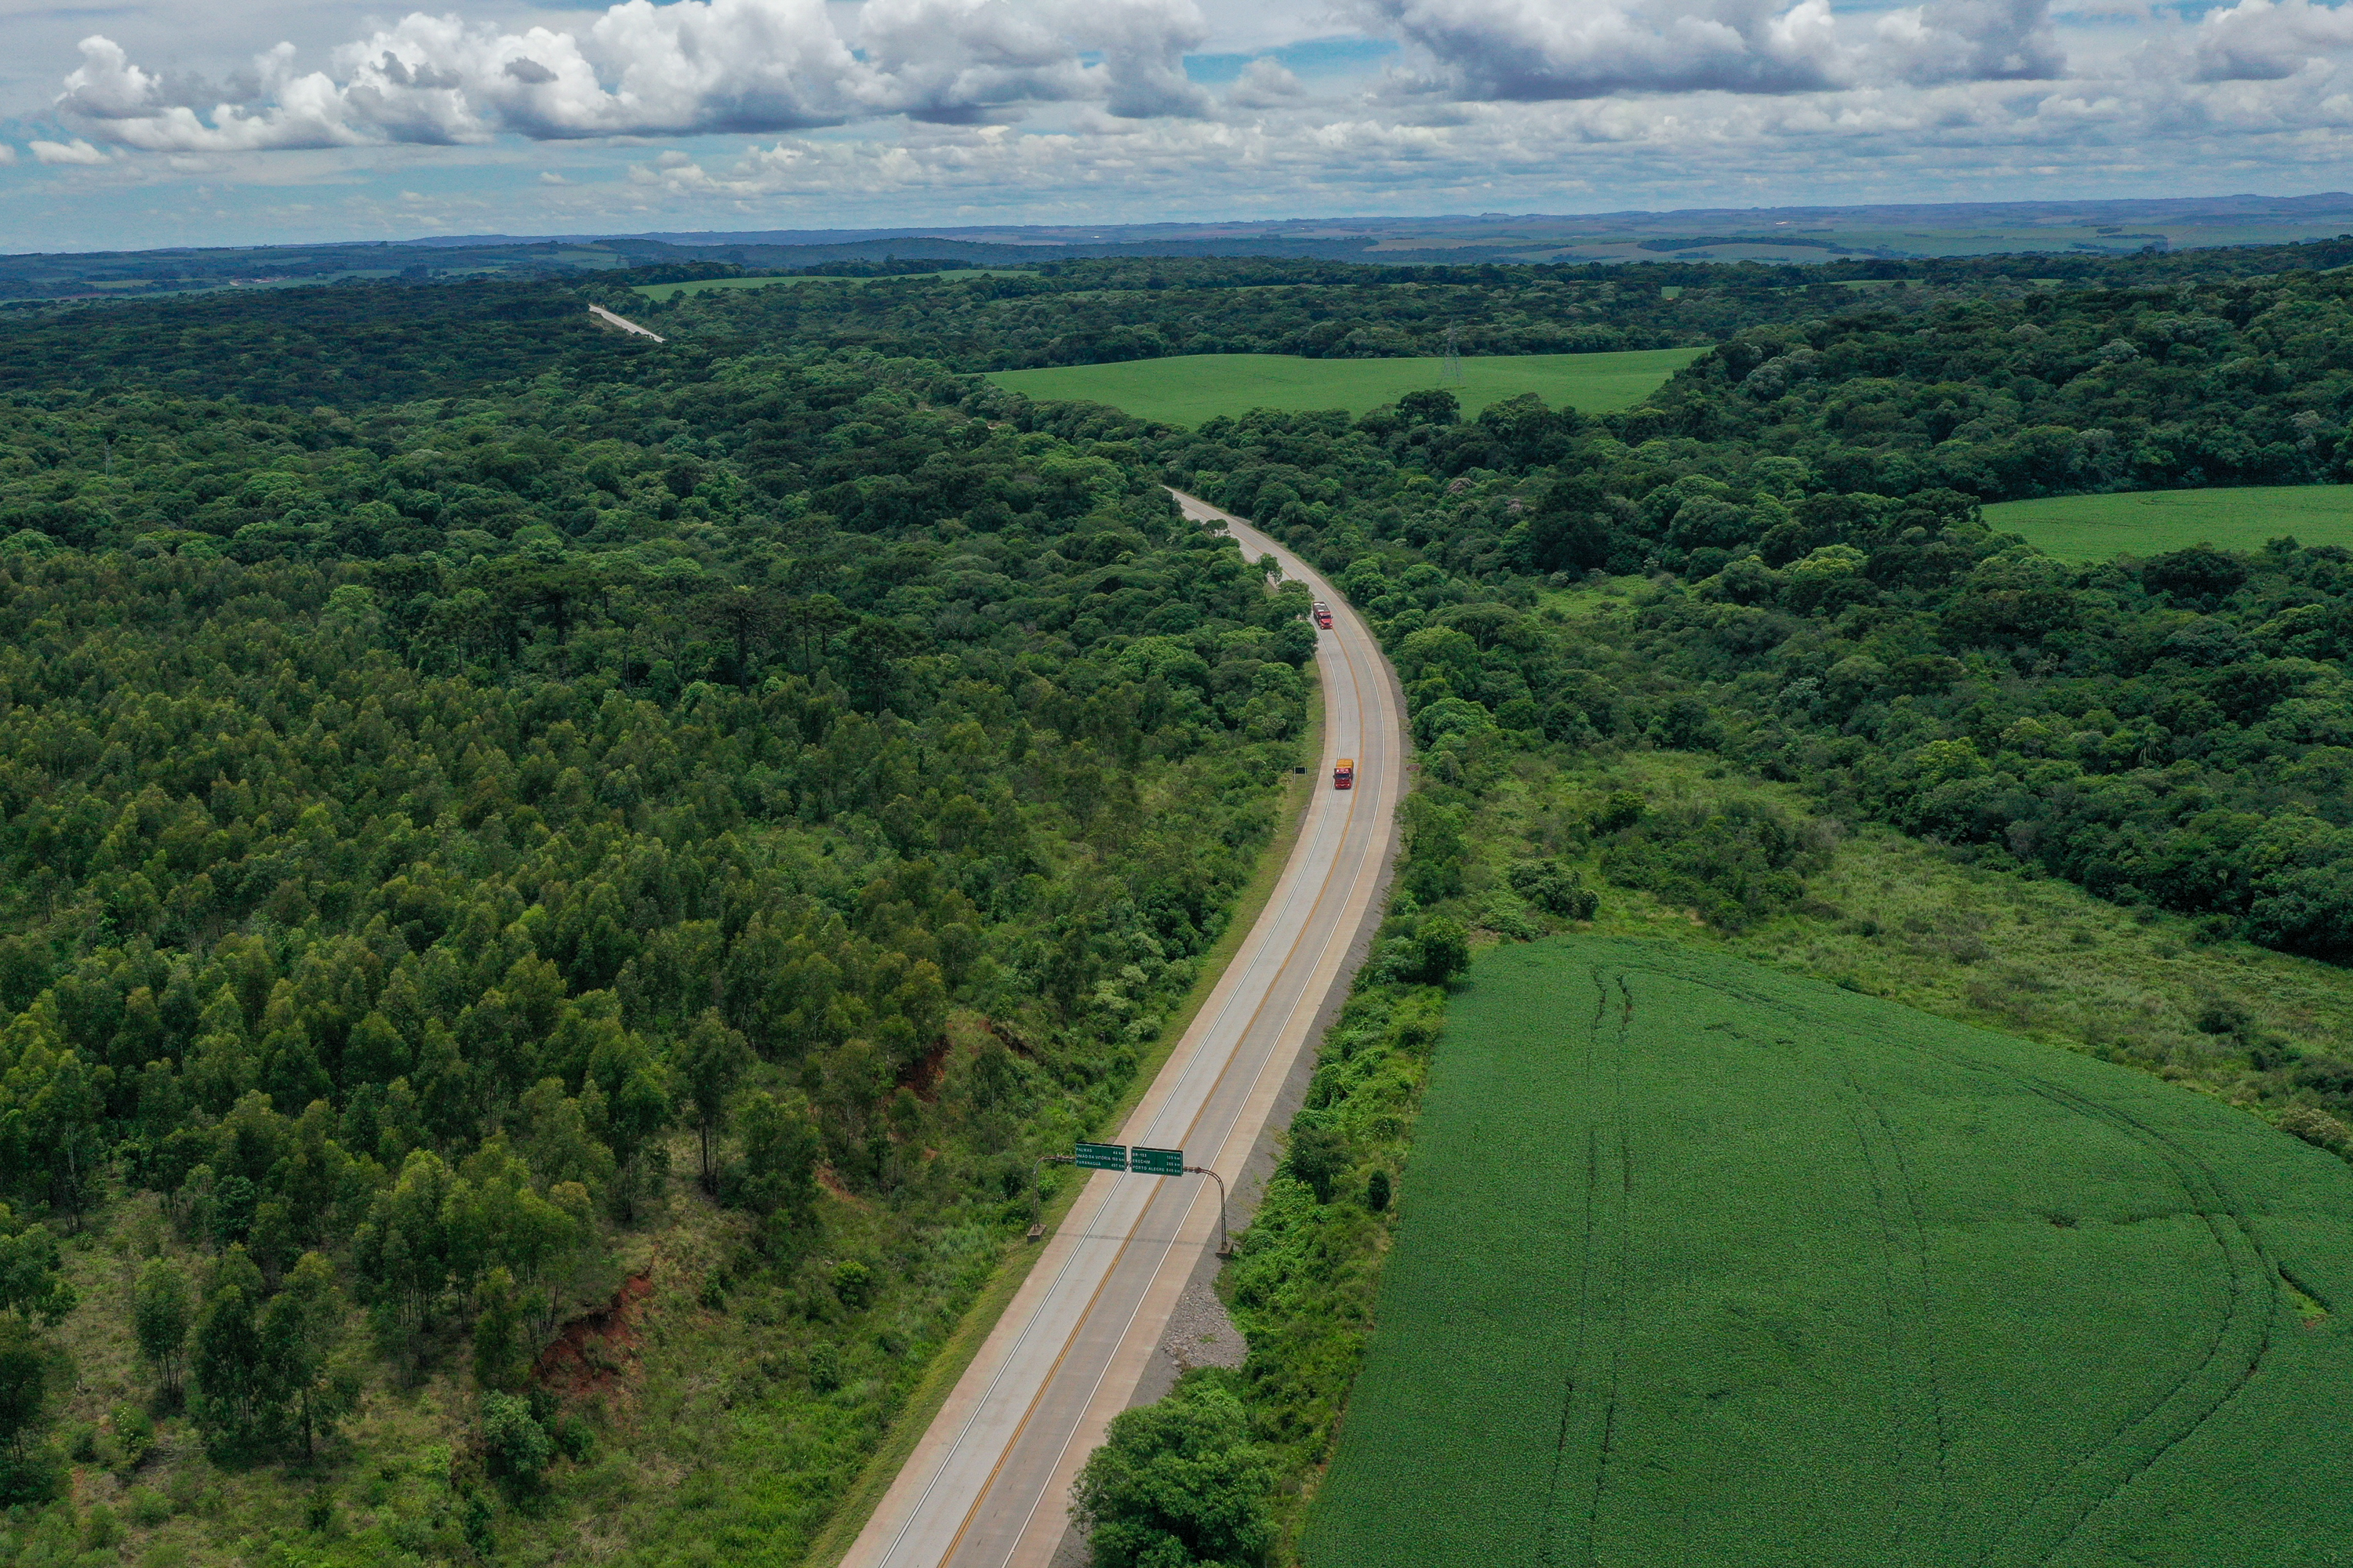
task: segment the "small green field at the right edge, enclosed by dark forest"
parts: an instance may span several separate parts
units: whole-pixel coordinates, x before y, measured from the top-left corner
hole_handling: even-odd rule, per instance
[[[2261,550],[2294,536],[2306,545],[2353,545],[2353,484],[2153,489],[2122,496],[2002,501],[1986,522],[2071,562],[2155,555],[2184,545]]]

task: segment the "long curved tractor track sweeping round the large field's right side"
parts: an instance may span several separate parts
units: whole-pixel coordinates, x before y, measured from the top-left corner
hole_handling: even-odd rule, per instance
[[[1697,980],[1689,976],[1671,976],[1671,971],[1647,973],[1682,978],[1692,985],[1734,997],[1748,1006],[1802,1016],[1802,1009],[1795,1004],[1762,997],[1722,980]],[[2247,1213],[2231,1201],[2228,1190],[2221,1185],[2221,1178],[2214,1175],[2214,1168],[2191,1150],[2181,1147],[2181,1143],[2169,1133],[2151,1126],[2127,1110],[2106,1105],[2019,1067],[1955,1056],[1927,1044],[1911,1044],[1911,1048],[1944,1063],[1946,1067],[1962,1072],[1991,1072],[2009,1079],[2026,1093],[2047,1100],[2049,1105],[2092,1121],[2104,1121],[2125,1138],[2139,1143],[2158,1157],[2174,1185],[2181,1187],[2191,1211],[2207,1227],[2207,1234],[2214,1239],[2214,1248],[2221,1253],[2228,1305],[2224,1307],[2221,1324],[2217,1324],[2198,1363],[2174,1378],[2174,1382],[2158,1394],[2158,1399],[2144,1406],[2139,1415],[2118,1425],[2108,1439],[2071,1460],[2052,1481],[2042,1486],[2040,1493],[2035,1493],[2033,1502],[2012,1516],[2012,1526],[1974,1559],[1977,1568],[2028,1568],[2049,1563],[2082,1533],[2094,1514],[2122,1495],[2179,1443],[2191,1439],[2207,1420],[2221,1413],[2221,1408],[2231,1403],[2240,1389],[2247,1387],[2264,1356],[2271,1352],[2271,1335],[2280,1300],[2275,1284],[2278,1265]],[[2228,1225],[2224,1220],[2228,1220]],[[2247,1260],[2249,1253],[2252,1265]],[[2231,1354],[2233,1340],[2245,1340],[2249,1335],[2254,1338],[2252,1349]],[[2219,1378],[2207,1378],[2209,1373],[2217,1373]],[[2200,1389],[2198,1385],[2202,1380],[2209,1387]],[[2172,1415],[2167,1415],[2169,1408]],[[2155,1439],[2153,1446],[2148,1446],[2148,1439]],[[2134,1453],[2144,1446],[2146,1453]]]

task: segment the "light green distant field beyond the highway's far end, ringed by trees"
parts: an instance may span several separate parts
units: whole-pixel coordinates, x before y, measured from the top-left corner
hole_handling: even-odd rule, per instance
[[[1537,393],[1551,407],[1588,414],[1631,409],[1704,348],[1638,348],[1602,355],[1464,357],[1464,383],[1449,388],[1464,414]],[[1301,360],[1297,355],[1174,355],[1122,364],[1059,364],[991,371],[1009,393],[1038,400],[1108,402],[1136,418],[1198,425],[1249,409],[1348,409],[1362,414],[1405,393],[1438,386],[1438,360]]]

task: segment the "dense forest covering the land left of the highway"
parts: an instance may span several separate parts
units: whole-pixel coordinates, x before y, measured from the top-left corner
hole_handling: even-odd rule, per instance
[[[1153,1051],[1304,733],[1301,590],[1134,451],[925,367],[633,369],[7,404],[9,1307],[40,1349],[59,1244],[132,1225],[132,1309],[68,1340],[136,1342],[221,1474],[353,1474],[464,1375],[348,1561],[565,1528],[600,1427],[534,1359],[701,1208],[689,1288],[774,1326],[727,1436],[800,1434],[744,1514],[807,1537]],[[141,1410],[75,1436],[33,1382],[14,1502],[66,1450],[139,1474]]]

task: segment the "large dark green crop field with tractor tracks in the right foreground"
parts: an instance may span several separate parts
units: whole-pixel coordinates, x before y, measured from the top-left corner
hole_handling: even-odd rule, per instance
[[[1692,947],[1485,954],[1313,1568],[2353,1561],[2353,1171]]]

